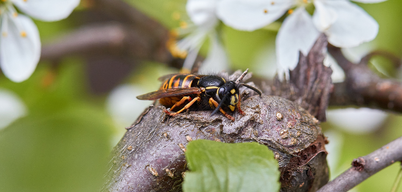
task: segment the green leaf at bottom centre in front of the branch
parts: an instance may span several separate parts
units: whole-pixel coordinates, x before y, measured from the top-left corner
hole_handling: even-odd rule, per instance
[[[195,140],[187,145],[184,192],[277,192],[278,162],[258,143]]]

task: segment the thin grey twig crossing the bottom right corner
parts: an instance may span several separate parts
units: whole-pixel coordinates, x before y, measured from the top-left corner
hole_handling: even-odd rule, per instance
[[[354,159],[352,167],[324,185],[318,192],[346,192],[374,173],[402,160],[402,137],[363,157]]]

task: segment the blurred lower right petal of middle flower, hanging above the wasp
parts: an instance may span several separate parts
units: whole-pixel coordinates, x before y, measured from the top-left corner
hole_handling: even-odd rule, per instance
[[[211,47],[207,58],[202,63],[199,72],[207,74],[211,72],[227,71],[229,69],[228,57],[216,33],[211,34]]]

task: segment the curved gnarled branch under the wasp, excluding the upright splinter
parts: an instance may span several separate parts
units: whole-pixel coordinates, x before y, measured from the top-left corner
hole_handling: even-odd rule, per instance
[[[301,166],[287,168],[295,154],[300,154],[319,136],[322,138],[318,120],[294,102],[277,96],[252,96],[242,105],[246,115],[235,113],[234,122],[223,115],[210,117],[210,111],[171,117],[163,108],[151,106],[117,144],[104,191],[180,191],[182,173],[186,171],[182,147],[188,143],[186,136],[267,145],[287,173],[282,179],[293,180],[283,185],[282,191],[307,191],[328,181],[325,153],[317,156],[314,153],[312,162],[307,160]],[[277,117],[278,113],[282,118]],[[298,158],[296,161],[300,163]],[[324,172],[312,171],[323,167]]]

